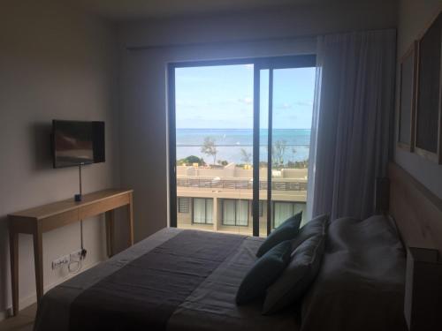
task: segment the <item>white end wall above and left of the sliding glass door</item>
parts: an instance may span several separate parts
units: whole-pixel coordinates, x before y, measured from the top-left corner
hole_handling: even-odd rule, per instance
[[[316,34],[396,26],[395,1],[354,3],[119,26],[121,181],[135,189],[137,240],[167,225],[166,64],[311,53]],[[297,38],[284,39],[293,36]],[[266,38],[279,39],[259,41]]]

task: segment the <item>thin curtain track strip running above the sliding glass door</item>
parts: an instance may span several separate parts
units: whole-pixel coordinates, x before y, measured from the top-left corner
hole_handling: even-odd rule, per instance
[[[333,32],[328,34],[304,34],[304,35],[288,35],[284,37],[268,37],[268,38],[248,38],[248,39],[239,39],[234,41],[199,41],[199,42],[183,42],[183,43],[170,43],[170,44],[154,44],[148,46],[130,46],[126,47],[127,50],[151,50],[151,49],[173,49],[173,48],[184,48],[184,47],[202,47],[202,46],[222,46],[222,45],[234,45],[240,43],[250,43],[250,42],[263,42],[263,41],[296,41],[296,40],[307,40],[316,38],[319,35],[330,35],[330,34],[351,34],[355,32],[375,32],[375,31],[385,31],[396,29],[395,27],[386,27],[381,29],[370,29],[370,30],[354,30],[354,31],[345,31],[345,32]]]

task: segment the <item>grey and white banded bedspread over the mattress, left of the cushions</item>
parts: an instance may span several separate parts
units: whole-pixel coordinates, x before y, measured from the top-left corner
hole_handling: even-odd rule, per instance
[[[295,309],[263,316],[234,297],[263,239],[162,229],[50,290],[34,329],[299,330]]]

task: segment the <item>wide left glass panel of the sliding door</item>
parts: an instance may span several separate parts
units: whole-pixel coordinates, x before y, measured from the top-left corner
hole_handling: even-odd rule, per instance
[[[177,67],[173,78],[177,227],[251,236],[254,65]]]

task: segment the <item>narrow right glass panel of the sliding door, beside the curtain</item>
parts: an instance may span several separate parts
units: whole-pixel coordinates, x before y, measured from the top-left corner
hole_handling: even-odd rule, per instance
[[[303,213],[316,68],[275,69],[271,109],[271,228]]]

